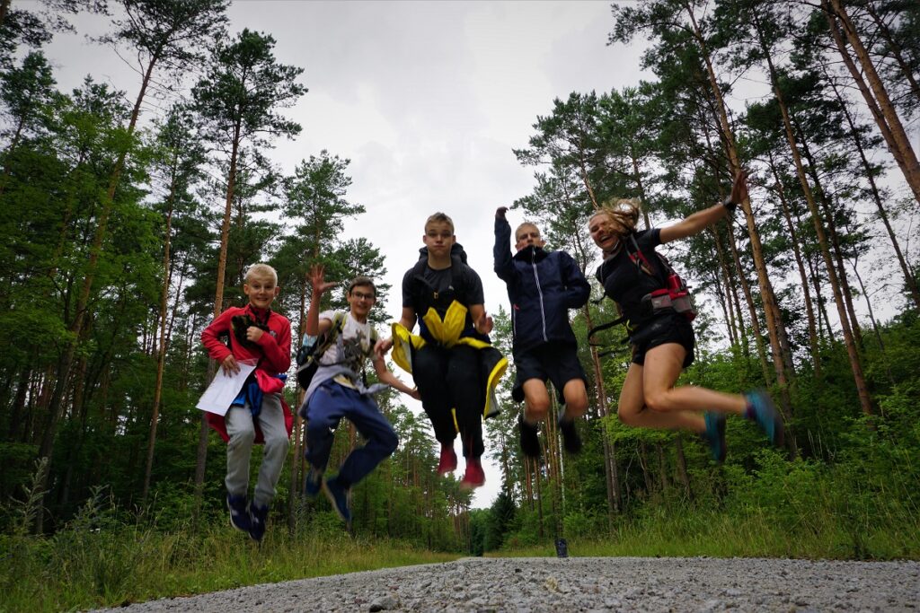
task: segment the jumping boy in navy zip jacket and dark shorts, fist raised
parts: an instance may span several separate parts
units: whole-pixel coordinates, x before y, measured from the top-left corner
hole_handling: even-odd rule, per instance
[[[537,424],[546,418],[550,380],[565,403],[559,429],[566,450],[577,453],[581,439],[575,419],[588,408],[585,374],[578,359],[575,334],[569,325],[569,309],[588,301],[591,286],[571,255],[546,252],[546,244],[533,223],[522,223],[514,233],[517,254],[509,241],[512,227],[505,219],[507,207],[495,211],[495,273],[508,286],[512,303],[514,381],[512,398],[524,402],[518,417],[521,449],[531,457],[540,455]]]

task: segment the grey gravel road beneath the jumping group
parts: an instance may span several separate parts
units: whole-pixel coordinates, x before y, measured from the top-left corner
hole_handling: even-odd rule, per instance
[[[917,611],[920,562],[466,558],[111,611]]]

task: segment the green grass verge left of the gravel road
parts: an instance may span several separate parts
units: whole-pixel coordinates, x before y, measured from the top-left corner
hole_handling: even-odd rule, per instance
[[[201,534],[68,529],[0,537],[0,611],[117,607],[243,585],[352,573],[458,556],[391,540],[291,538],[270,529],[259,548],[223,524]]]

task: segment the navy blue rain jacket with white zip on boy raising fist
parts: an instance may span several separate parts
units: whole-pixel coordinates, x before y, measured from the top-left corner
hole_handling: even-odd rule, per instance
[[[529,246],[512,256],[512,227],[495,220],[495,273],[508,286],[512,302],[514,351],[550,341],[575,344],[569,309],[588,301],[591,286],[571,255]]]

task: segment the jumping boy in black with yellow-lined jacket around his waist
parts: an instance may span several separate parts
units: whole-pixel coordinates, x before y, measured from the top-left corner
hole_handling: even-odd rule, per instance
[[[394,361],[412,373],[441,443],[439,474],[456,469],[454,438],[460,434],[466,458],[460,486],[472,489],[486,481],[482,419],[498,412],[494,391],[508,360],[489,342],[493,323],[483,306],[482,280],[466,265],[451,218],[431,215],[422,242],[419,262],[403,277],[402,315],[378,350],[393,346]],[[411,334],[416,321],[419,335]]]

